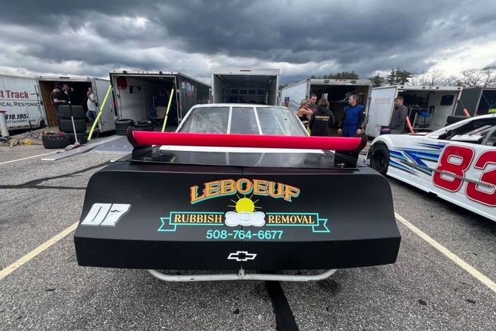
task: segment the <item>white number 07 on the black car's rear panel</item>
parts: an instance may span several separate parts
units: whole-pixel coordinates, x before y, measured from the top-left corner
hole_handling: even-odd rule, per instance
[[[130,208],[127,203],[93,203],[81,225],[116,226]]]

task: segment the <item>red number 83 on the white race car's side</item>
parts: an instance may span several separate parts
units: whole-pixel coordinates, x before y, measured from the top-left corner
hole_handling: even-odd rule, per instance
[[[433,173],[433,184],[444,190],[457,192],[462,188],[465,172],[471,167],[474,154],[472,148],[464,146],[450,145],[444,148],[439,164]],[[484,170],[489,164],[496,165],[496,150],[483,152],[472,166],[475,169]],[[443,174],[445,177],[442,177]],[[446,174],[453,176],[446,178]],[[481,190],[480,184],[468,181],[465,188],[468,199],[484,203],[484,205],[496,206],[496,168],[483,171],[478,181],[489,186],[489,190],[487,188]]]

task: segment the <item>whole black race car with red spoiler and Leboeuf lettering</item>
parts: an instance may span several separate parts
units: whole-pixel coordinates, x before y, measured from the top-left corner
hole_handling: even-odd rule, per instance
[[[237,103],[194,106],[176,132],[128,138],[132,154],[87,185],[79,265],[148,269],[169,281],[307,281],[396,260],[391,189],[357,165],[360,138],[309,137],[288,108]]]

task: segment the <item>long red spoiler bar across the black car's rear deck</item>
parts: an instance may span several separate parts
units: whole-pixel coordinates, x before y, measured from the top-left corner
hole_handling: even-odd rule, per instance
[[[305,137],[260,134],[211,134],[133,131],[133,145],[214,146],[249,148],[302,148],[313,150],[356,150],[362,139],[355,137]]]

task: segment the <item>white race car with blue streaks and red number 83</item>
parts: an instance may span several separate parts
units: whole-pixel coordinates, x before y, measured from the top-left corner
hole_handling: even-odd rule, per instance
[[[430,133],[381,135],[366,161],[381,174],[496,221],[496,114]]]

